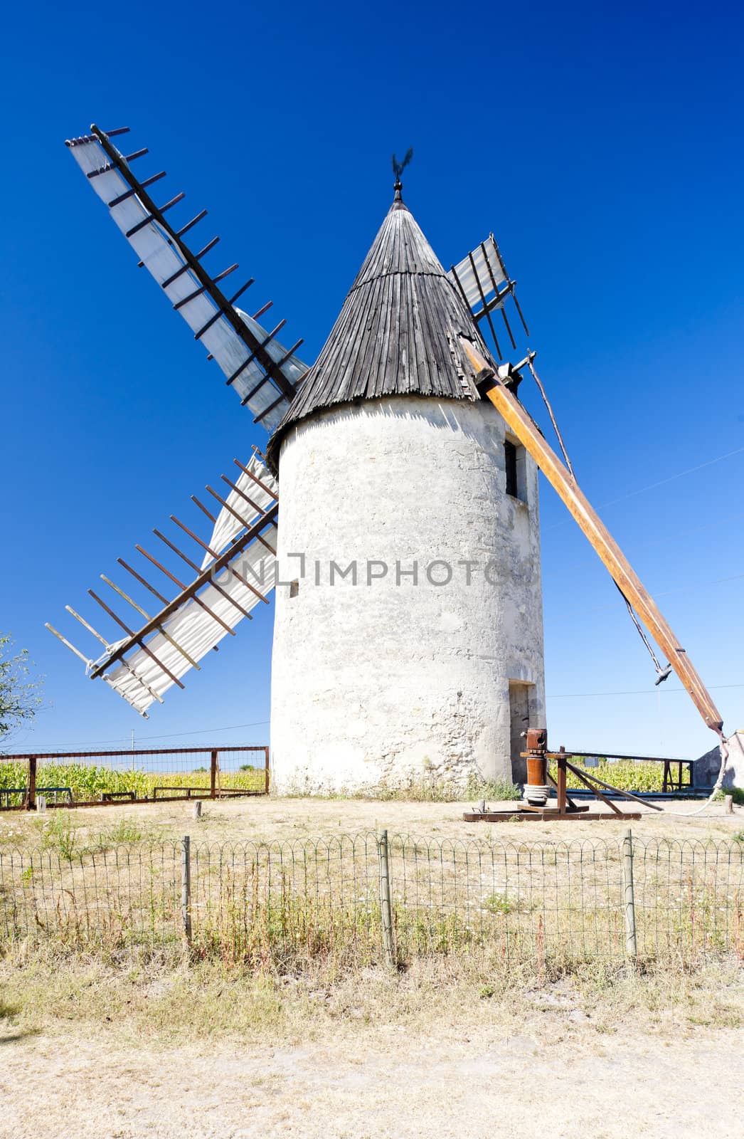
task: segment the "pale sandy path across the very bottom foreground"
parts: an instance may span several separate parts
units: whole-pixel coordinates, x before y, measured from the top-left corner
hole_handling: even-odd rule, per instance
[[[744,1034],[686,1040],[504,1030],[341,1044],[162,1051],[61,1034],[0,1038],[2,1139],[741,1139]],[[529,1075],[529,1079],[528,1079]],[[709,1080],[712,1077],[712,1083]],[[530,1090],[531,1089],[531,1090]]]

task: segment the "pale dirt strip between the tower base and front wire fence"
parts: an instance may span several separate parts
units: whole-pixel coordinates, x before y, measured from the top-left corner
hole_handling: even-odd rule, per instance
[[[622,805],[622,804],[620,804]],[[626,804],[639,810],[643,818],[631,823],[639,838],[727,839],[744,827],[744,808],[734,808],[726,814],[722,803],[712,803],[702,814],[684,818],[702,803],[694,800],[663,802],[664,813],[646,804]],[[513,803],[489,806],[511,810]],[[606,838],[614,842],[628,822],[611,818],[602,804],[596,808],[609,816],[607,821],[571,822],[494,822],[463,821],[463,812],[472,811],[472,803],[422,803],[379,800],[317,800],[317,798],[240,798],[204,802],[201,819],[193,819],[193,804],[189,802],[147,803],[141,805],[78,808],[65,810],[74,827],[85,834],[116,828],[123,822],[139,828],[143,838],[166,839],[191,835],[193,842],[239,841],[296,841],[305,837],[350,834],[387,827],[390,834],[411,834],[432,838],[489,838],[520,842],[552,839],[569,842],[579,838]],[[593,804],[592,810],[595,810]],[[61,814],[61,810],[42,816],[8,812],[0,816],[0,850],[5,846],[32,846],[39,842],[46,820]]]

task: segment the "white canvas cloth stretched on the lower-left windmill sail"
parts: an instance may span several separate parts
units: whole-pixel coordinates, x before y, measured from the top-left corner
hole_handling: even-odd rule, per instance
[[[261,478],[274,494],[276,493],[274,478],[255,456],[247,469]],[[228,507],[223,507],[207,543],[215,554],[225,550],[243,530],[253,525],[261,514],[275,502],[275,499],[266,490],[258,486],[246,474],[241,474],[235,485],[253,500],[257,509],[253,508],[238,491],[233,490],[230,493],[225,501],[245,518],[245,525],[235,518]],[[258,538],[254,539],[245,550],[237,554],[234,559],[229,563],[264,597],[270,593],[275,583],[276,538],[276,526],[267,525]],[[213,562],[214,557],[207,554],[202,570]],[[261,598],[228,568],[217,575],[216,581],[224,593],[215,589],[214,585],[206,584],[199,591],[198,597],[212,613],[221,617],[231,629],[234,629],[243,620],[243,615],[231,604],[229,598],[233,598],[246,611],[262,604]],[[224,596],[225,593],[228,597]],[[215,645],[218,645],[223,637],[228,636],[226,630],[195,598],[184,601],[172,616],[162,623],[162,628],[176,645],[181,646],[197,662]],[[116,645],[110,645],[104,656],[89,666],[88,672],[90,673],[105,662],[123,644],[124,641],[118,641]],[[142,715],[147,713],[156,699],[162,698],[164,693],[175,683],[158,662],[179,679],[192,667],[183,653],[179,652],[163,632],[156,631],[146,644],[157,659],[154,659],[143,648],[135,646],[126,654],[124,661],[115,662],[110,671],[104,673],[106,683]]]

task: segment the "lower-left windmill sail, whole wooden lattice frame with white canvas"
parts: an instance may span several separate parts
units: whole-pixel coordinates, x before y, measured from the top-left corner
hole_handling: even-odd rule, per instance
[[[239,478],[233,482],[225,475],[222,476],[231,487],[226,497],[207,487],[222,507],[216,517],[199,499],[193,498],[213,523],[208,540],[200,539],[189,526],[171,515],[176,526],[189,535],[200,552],[204,551],[200,565],[160,531],[155,531],[158,539],[190,566],[190,582],[184,583],[147,550],[137,547],[150,566],[156,566],[171,582],[179,585],[180,592],[173,600],[168,601],[139,570],[122,558],[118,559],[119,565],[162,603],[155,616],[150,616],[125,590],[101,574],[104,582],[138,612],[139,628],[130,628],[132,618],[122,620],[93,590],[89,590],[90,596],[118,629],[126,633],[122,639],[109,642],[84,617],[67,606],[68,612],[104,644],[105,652],[98,659],[88,658],[56,629],[47,625],[86,663],[90,677],[101,677],[142,715],[147,715],[147,710],[155,700],[163,703],[163,695],[173,685],[183,688],[181,678],[190,669],[198,669],[198,662],[210,649],[216,648],[223,637],[233,634],[235,626],[245,617],[250,620],[250,611],[259,601],[267,603],[268,593],[274,588],[279,513],[276,482],[255,454],[246,466],[234,461],[240,470]],[[132,587],[127,585],[130,588]],[[141,617],[146,618],[144,624]]]

